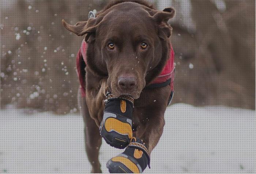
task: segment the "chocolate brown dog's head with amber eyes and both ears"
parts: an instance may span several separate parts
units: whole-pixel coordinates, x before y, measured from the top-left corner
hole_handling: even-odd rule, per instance
[[[75,26],[62,21],[78,36],[85,35],[87,64],[100,76],[108,76],[114,96],[139,98],[142,89],[162,70],[169,53],[172,7],[157,11],[138,2],[110,5],[96,18]]]

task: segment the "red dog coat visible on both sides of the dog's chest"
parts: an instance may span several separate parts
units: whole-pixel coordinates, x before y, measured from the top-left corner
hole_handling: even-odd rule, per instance
[[[80,88],[82,92],[82,97],[85,97],[85,83],[84,83],[84,76],[85,76],[85,70],[84,68],[86,67],[87,61],[86,61],[86,50],[87,50],[87,45],[86,42],[83,40],[82,45],[78,51],[78,54],[76,56],[76,68],[77,68],[77,74],[79,77],[80,81]],[[173,47],[171,45],[171,50],[170,50],[170,58],[168,59],[165,67],[163,67],[163,70],[161,74],[155,80],[153,80],[150,85],[147,87],[149,88],[158,88],[166,85],[170,85],[171,91],[173,93],[173,80],[174,80],[174,51]],[[171,93],[171,97],[172,97]],[[170,97],[170,99],[171,99]]]

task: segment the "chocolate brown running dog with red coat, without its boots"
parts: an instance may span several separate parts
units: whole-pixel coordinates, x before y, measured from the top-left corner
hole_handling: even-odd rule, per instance
[[[101,173],[99,127],[106,89],[116,97],[134,98],[133,137],[143,140],[148,155],[157,145],[165,125],[164,113],[173,96],[174,52],[168,20],[174,15],[173,7],[158,11],[147,1],[118,0],[111,1],[95,18],[74,26],[62,20],[67,30],[85,35],[77,56],[81,84],[78,102],[92,173]],[[124,167],[115,171],[134,172]]]

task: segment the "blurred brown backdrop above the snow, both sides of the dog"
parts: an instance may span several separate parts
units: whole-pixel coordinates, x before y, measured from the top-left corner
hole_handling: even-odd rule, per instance
[[[176,8],[174,103],[255,109],[255,1],[154,1]],[[1,1],[1,107],[76,112],[83,37],[65,30],[108,1]]]

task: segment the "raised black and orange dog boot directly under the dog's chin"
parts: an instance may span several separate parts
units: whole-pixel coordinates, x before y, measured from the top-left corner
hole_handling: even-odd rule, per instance
[[[116,148],[125,148],[132,138],[133,98],[113,97],[106,94],[105,110],[99,127],[100,135],[106,143]]]

